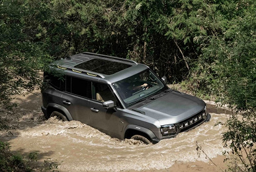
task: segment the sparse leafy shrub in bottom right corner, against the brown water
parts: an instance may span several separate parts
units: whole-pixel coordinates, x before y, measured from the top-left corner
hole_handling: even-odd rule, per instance
[[[237,155],[239,159],[237,162],[242,164],[237,166],[239,171],[256,170],[255,120],[255,113],[246,113],[243,119],[239,119],[238,115],[233,115],[224,123],[228,127],[228,131],[223,134],[224,146],[231,148],[232,154]]]

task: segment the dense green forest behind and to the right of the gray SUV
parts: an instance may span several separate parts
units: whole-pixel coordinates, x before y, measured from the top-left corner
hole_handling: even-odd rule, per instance
[[[224,142],[255,170],[255,0],[0,0],[0,103],[83,51],[133,59],[234,109]],[[236,113],[243,112],[243,121]],[[241,136],[243,135],[243,136]],[[230,145],[230,144],[229,144]],[[246,166],[247,164],[247,166]]]

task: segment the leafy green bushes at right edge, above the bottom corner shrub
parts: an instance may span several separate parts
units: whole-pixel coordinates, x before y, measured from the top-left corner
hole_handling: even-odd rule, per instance
[[[241,10],[241,11],[244,11]],[[208,93],[239,111],[256,107],[255,5],[237,16],[220,36],[214,36],[202,51],[194,76]]]

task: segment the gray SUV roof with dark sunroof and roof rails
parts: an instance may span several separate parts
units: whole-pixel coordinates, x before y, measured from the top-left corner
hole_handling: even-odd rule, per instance
[[[87,52],[54,61],[52,65],[57,66],[59,69],[105,78],[110,82],[116,82],[121,78],[126,78],[148,69],[146,65],[138,64],[129,59]]]

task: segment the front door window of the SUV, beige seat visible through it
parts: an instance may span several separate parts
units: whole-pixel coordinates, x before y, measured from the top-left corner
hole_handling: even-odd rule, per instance
[[[112,100],[115,104],[117,104],[116,98],[114,97],[114,94],[112,94],[112,91],[110,90],[107,84],[93,83],[92,90],[93,100],[101,102]]]

